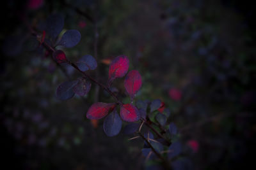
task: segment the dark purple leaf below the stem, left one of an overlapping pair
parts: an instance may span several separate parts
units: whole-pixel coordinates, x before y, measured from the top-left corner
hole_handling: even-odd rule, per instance
[[[74,87],[76,83],[77,81],[65,81],[64,83],[61,83],[56,90],[57,98],[64,101],[73,97],[74,92],[72,87]]]

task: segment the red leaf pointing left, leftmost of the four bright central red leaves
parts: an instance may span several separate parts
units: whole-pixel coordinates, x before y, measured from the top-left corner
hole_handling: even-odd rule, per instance
[[[108,115],[115,108],[115,103],[94,103],[86,113],[89,119],[100,119]]]

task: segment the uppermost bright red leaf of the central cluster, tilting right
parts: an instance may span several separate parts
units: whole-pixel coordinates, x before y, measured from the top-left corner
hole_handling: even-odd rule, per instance
[[[109,84],[115,78],[123,77],[129,68],[129,59],[125,55],[120,55],[116,57],[109,66],[108,79]]]

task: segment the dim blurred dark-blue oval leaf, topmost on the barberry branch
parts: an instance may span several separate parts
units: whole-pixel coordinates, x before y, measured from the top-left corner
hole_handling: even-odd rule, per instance
[[[46,20],[46,28],[45,31],[51,38],[56,38],[58,34],[62,31],[64,26],[64,18],[62,15],[56,13],[50,15]]]

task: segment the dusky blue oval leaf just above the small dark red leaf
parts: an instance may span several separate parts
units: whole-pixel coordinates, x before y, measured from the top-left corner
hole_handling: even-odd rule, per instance
[[[58,45],[65,46],[67,48],[71,48],[76,46],[81,39],[81,34],[77,30],[68,30],[66,31],[60,39]]]

